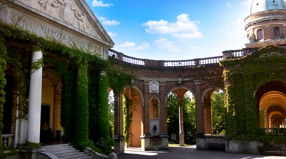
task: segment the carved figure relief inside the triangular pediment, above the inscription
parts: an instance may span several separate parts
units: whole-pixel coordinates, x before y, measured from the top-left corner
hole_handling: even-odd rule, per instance
[[[42,7],[40,9],[42,12],[90,33],[90,24],[86,13],[71,0],[38,0],[38,2]]]

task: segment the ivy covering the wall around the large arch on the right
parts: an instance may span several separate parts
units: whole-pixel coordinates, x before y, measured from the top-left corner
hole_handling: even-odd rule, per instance
[[[226,83],[224,104],[227,108],[226,135],[229,139],[260,141],[265,146],[286,142],[286,136],[275,136],[257,128],[258,87],[272,80],[286,83],[286,49],[266,46],[251,56],[223,60]]]

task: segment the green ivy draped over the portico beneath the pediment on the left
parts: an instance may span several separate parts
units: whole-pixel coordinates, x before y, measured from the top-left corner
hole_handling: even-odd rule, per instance
[[[57,72],[61,79],[60,118],[65,131],[62,140],[72,143],[80,150],[90,147],[97,152],[99,151],[93,143],[100,138],[111,145],[106,120],[107,89],[111,87],[115,93],[122,93],[126,86],[131,85],[134,76],[114,69],[112,59],[101,59],[99,55],[92,55],[88,50],[78,49],[73,44],[67,46],[53,37],[38,37],[16,26],[0,22],[0,121],[4,103],[6,61],[19,74],[14,79],[17,96],[20,97],[17,108],[21,112],[21,118],[27,117],[31,70],[45,65],[45,68]],[[5,45],[7,41],[22,41],[37,47],[29,51],[28,48],[9,47]],[[43,52],[43,58],[31,64],[31,52],[39,50]],[[100,75],[103,71],[105,76]],[[3,124],[0,122],[0,130],[2,128]]]

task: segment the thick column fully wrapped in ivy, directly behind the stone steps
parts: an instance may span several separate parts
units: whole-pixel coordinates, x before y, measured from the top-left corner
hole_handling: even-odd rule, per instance
[[[74,111],[74,145],[83,150],[88,145],[87,63],[78,64]]]

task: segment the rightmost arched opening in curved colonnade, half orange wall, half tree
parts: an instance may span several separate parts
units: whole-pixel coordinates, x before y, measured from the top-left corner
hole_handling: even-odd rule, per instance
[[[226,109],[223,100],[224,92],[219,88],[208,89],[203,94],[205,134],[224,134]]]

